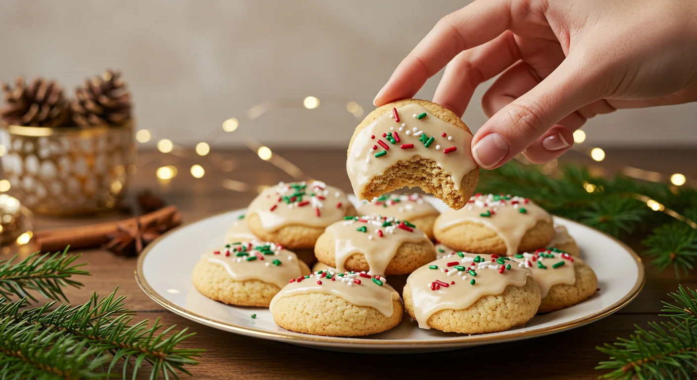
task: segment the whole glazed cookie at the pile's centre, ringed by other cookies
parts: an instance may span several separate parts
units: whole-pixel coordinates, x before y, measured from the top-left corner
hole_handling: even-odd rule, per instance
[[[434,244],[410,222],[381,216],[346,217],[327,227],[314,246],[337,271],[404,275],[436,258]]]

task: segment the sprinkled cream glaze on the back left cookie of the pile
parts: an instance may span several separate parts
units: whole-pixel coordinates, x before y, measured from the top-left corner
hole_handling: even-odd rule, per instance
[[[320,181],[279,183],[266,188],[247,207],[256,213],[266,231],[287,225],[327,227],[342,220],[351,206],[346,193]]]

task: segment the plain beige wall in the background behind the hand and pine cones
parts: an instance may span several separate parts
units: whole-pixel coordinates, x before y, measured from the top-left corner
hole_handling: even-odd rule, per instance
[[[314,110],[277,110],[240,130],[270,146],[345,145],[345,109],[372,98],[399,61],[457,0],[2,0],[0,80],[47,75],[70,91],[120,68],[141,128],[180,144],[263,100],[317,96]],[[430,98],[432,79],[419,96]],[[485,120],[477,91],[464,120]],[[341,100],[331,102],[330,97]],[[590,121],[588,142],[697,145],[697,105],[616,112]],[[217,144],[237,144],[238,132]]]

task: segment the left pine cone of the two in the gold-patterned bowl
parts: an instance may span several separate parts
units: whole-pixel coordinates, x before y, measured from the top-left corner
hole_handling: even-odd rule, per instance
[[[68,118],[69,102],[63,89],[53,80],[36,77],[29,86],[24,77],[15,79],[15,88],[2,83],[7,106],[0,109],[0,117],[15,126],[59,127]]]

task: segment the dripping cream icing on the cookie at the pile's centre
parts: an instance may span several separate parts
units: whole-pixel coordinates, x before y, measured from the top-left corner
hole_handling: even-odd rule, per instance
[[[365,255],[370,274],[384,274],[385,268],[404,243],[427,243],[423,231],[411,223],[381,216],[346,217],[326,229],[335,241],[337,271],[346,271],[346,259],[357,253]]]

